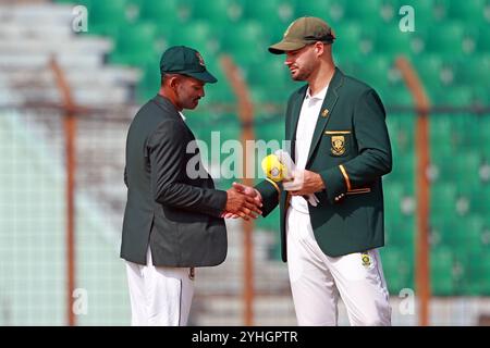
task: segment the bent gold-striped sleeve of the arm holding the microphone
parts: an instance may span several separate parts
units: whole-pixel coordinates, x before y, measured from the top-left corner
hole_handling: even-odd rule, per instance
[[[339,166],[320,173],[329,201],[340,194],[366,184],[391,172],[391,145],[383,104],[373,89],[358,98],[353,115],[358,156]]]

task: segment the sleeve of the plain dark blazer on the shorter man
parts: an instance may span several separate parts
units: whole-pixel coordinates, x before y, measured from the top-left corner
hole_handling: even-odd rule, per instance
[[[177,121],[167,120],[148,139],[154,199],[160,204],[220,216],[226,204],[225,191],[186,184],[185,132]]]

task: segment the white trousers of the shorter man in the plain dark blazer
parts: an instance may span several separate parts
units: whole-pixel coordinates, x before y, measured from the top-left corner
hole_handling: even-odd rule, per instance
[[[194,295],[189,268],[154,266],[126,261],[133,326],[185,326]],[[192,270],[194,272],[194,270]]]

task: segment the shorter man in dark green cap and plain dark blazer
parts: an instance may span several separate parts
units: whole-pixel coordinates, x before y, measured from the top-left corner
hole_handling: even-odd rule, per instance
[[[257,199],[215,189],[188,145],[183,109],[195,109],[217,79],[196,50],[171,47],[160,61],[161,87],[136,113],[126,140],[121,258],[126,260],[133,325],[186,325],[194,268],[223,262],[223,213],[260,214]],[[196,148],[196,147],[191,147]],[[193,165],[187,165],[189,163]],[[196,173],[198,175],[196,175]]]

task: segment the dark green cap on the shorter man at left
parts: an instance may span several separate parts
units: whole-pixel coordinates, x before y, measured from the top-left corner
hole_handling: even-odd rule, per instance
[[[206,70],[200,53],[185,46],[173,46],[163,52],[160,59],[160,73],[186,75],[210,84],[218,82]]]

